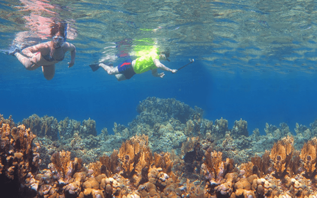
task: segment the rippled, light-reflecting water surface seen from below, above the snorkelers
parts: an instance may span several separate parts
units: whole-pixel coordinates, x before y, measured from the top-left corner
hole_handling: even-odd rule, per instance
[[[45,24],[58,18],[69,24],[67,35],[74,39],[77,57],[88,62],[105,59],[105,54],[106,60],[115,61],[113,54],[120,49],[110,48],[110,43],[148,38],[170,49],[171,56],[195,57],[213,69],[314,72],[316,4],[280,3],[283,6],[273,0],[1,1],[0,34],[13,33],[15,39],[23,34],[38,43],[36,38],[47,39]],[[7,49],[13,39],[2,37],[0,48]]]

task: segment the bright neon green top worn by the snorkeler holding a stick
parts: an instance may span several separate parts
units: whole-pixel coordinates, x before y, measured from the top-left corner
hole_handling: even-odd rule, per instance
[[[147,53],[141,57],[135,59],[134,72],[141,74],[143,72],[152,70],[155,68],[154,59],[159,59],[157,50],[152,50],[150,53]]]

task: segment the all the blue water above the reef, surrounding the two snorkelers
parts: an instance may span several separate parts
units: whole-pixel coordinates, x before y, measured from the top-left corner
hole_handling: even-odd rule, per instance
[[[151,6],[142,7],[141,1],[48,1],[55,6],[49,10],[76,30],[68,40],[77,48],[75,65],[67,68],[67,52],[56,64],[53,80],[47,81],[40,68],[27,71],[15,57],[0,53],[0,114],[12,115],[15,122],[34,113],[58,121],[91,118],[98,133],[104,127],[112,133],[114,122],[127,126],[137,116],[140,101],[158,97],[201,107],[204,118],[223,117],[229,128],[242,118],[249,134],[255,128],[264,134],[265,123],[285,122],[294,131],[296,123],[309,126],[317,119],[315,1],[285,7],[271,1],[149,2]],[[16,7],[23,3],[0,1],[2,50],[17,33],[36,32],[17,20],[30,15]],[[46,12],[38,14],[50,18]],[[144,30],[157,27],[162,28]],[[104,48],[127,38],[157,39],[170,49],[171,61],[162,63],[172,69],[189,58],[195,62],[177,74],[165,72],[163,79],[149,72],[117,82],[101,69],[91,71],[89,64],[118,53]],[[111,59],[114,65],[121,60]]]

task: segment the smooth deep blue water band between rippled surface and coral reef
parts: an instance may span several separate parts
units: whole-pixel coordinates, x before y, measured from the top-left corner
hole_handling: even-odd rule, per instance
[[[266,122],[276,126],[285,122],[294,131],[296,122],[309,126],[317,119],[316,74],[228,73],[210,70],[197,60],[163,79],[145,73],[117,82],[88,66],[71,71],[68,77],[69,69],[60,66],[55,78],[47,81],[40,71],[19,69],[21,65],[11,56],[0,54],[0,59],[1,68],[5,68],[0,74],[0,112],[4,117],[12,115],[15,122],[33,113],[54,116],[58,121],[91,118],[96,120],[98,132],[106,127],[111,133],[113,122],[127,126],[137,115],[139,101],[147,97],[175,98],[196,105],[204,109],[206,119],[227,119],[229,128],[242,118],[248,122],[250,134],[255,128],[264,133]],[[178,68],[185,63],[170,62],[168,66]]]

